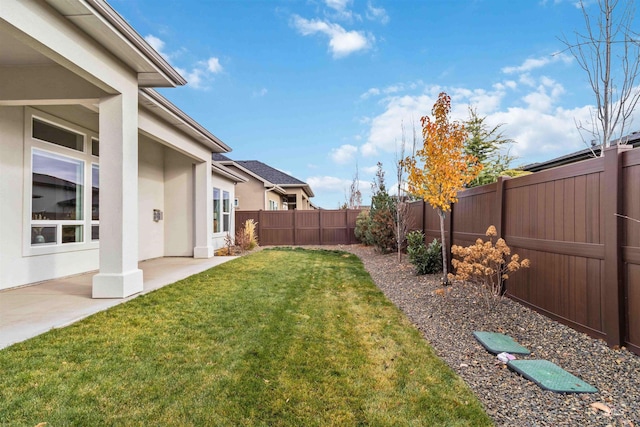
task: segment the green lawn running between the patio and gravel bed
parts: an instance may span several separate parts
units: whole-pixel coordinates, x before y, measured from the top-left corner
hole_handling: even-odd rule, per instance
[[[481,426],[354,255],[264,250],[0,351],[0,425]]]

